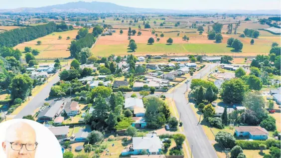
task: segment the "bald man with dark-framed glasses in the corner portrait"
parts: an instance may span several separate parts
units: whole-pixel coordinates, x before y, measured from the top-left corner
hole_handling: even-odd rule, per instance
[[[2,143],[6,158],[35,158],[37,145],[34,129],[24,122],[10,125]]]

